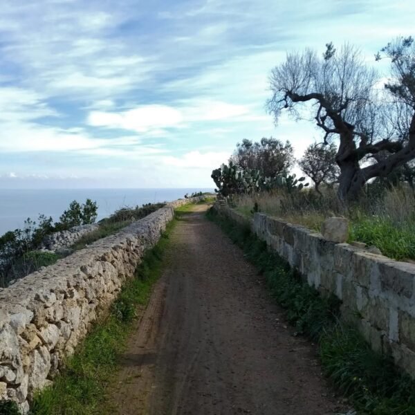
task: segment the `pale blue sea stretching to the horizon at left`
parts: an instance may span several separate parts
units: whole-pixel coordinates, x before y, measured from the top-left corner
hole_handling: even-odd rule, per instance
[[[98,204],[98,221],[125,206],[182,199],[186,193],[213,192],[213,188],[177,189],[0,189],[0,236],[24,227],[28,218],[37,221],[39,214],[54,221],[71,201],[84,203],[92,199]]]

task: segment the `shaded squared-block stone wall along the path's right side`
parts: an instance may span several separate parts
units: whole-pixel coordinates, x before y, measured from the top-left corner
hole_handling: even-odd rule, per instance
[[[255,213],[253,220],[227,206],[216,210],[266,241],[308,284],[342,300],[342,317],[371,347],[390,353],[415,377],[415,264],[394,261],[348,243],[327,241],[301,225]]]

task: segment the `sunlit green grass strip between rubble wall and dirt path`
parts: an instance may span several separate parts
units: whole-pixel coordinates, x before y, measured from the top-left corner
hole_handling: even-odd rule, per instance
[[[135,278],[125,284],[107,317],[95,324],[53,385],[40,391],[32,415],[113,414],[106,388],[116,374],[118,359],[131,333],[138,306],[145,306],[160,276],[163,252],[169,243],[169,223],[157,245],[147,251]]]

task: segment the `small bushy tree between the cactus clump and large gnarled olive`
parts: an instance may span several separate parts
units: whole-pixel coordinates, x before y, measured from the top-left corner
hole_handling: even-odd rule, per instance
[[[340,173],[335,163],[337,150],[332,143],[322,145],[314,143],[309,145],[298,165],[315,184],[315,190],[320,193],[319,187],[322,183],[334,183]]]

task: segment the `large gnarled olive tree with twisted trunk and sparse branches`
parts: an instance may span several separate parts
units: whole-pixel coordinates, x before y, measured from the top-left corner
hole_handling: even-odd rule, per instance
[[[322,57],[308,49],[289,53],[270,75],[273,95],[267,107],[275,121],[283,111],[297,118],[305,111],[324,131],[325,143],[338,139],[335,160],[342,199],[356,198],[370,178],[387,176],[415,157],[412,38],[397,39],[382,54],[391,59],[385,89],[378,87],[374,68],[349,45],[338,51],[327,44]],[[377,159],[380,153],[387,157]]]

